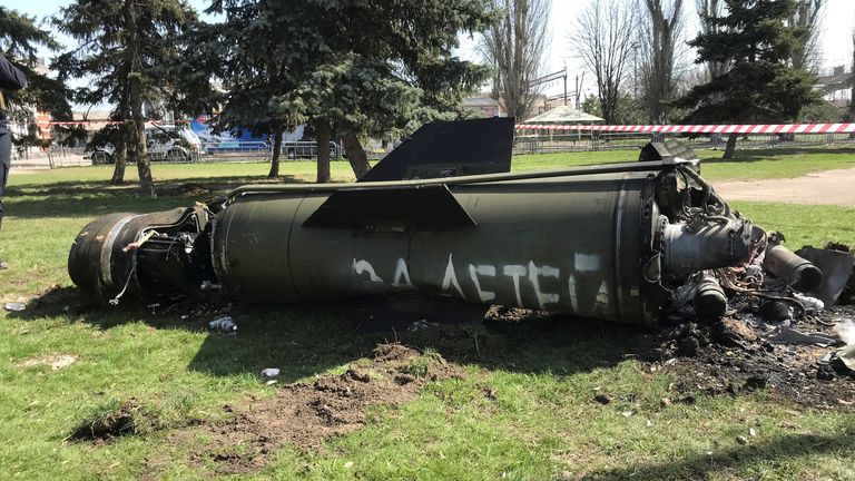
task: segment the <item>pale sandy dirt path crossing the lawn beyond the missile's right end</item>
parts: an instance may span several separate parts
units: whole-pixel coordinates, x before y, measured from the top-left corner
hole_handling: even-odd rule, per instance
[[[855,169],[825,170],[788,179],[715,183],[727,200],[775,200],[788,204],[855,207]]]

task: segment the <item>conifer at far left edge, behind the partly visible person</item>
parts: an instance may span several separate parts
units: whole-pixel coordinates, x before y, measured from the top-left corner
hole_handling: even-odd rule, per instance
[[[0,51],[27,75],[27,88],[7,92],[8,116],[12,121],[28,124],[28,134],[38,130],[33,107],[56,120],[70,120],[68,89],[61,80],[38,71],[39,47],[56,50],[59,46],[49,31],[36,24],[36,19],[16,10],[0,7]]]

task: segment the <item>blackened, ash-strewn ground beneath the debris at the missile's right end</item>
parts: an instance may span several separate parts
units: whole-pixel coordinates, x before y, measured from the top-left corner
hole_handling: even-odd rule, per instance
[[[834,338],[834,325],[845,318],[855,318],[855,306],[834,306],[804,317],[793,328]],[[855,403],[855,373],[833,360],[837,347],[776,344],[769,340],[776,328],[749,313],[707,325],[666,326],[651,353],[652,369],[672,374],[676,392],[687,402],[698,394],[767,389],[809,408],[845,409]]]

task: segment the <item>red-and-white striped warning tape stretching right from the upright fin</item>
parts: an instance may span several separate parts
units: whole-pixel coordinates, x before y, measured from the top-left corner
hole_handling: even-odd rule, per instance
[[[519,124],[517,130],[581,130],[641,134],[848,134],[855,124],[758,125],[546,125]]]

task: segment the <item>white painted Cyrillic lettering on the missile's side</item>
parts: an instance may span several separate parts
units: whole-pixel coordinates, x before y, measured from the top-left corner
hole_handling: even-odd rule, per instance
[[[466,268],[462,271],[462,275],[459,277],[459,269],[454,265],[454,257],[452,254],[449,254],[442,282],[439,286],[443,292],[456,293],[463,300],[475,301],[464,293],[464,287],[468,286],[474,289],[478,301],[482,303],[497,302],[509,305],[515,304],[521,307],[535,307],[534,305],[529,305],[529,303],[523,304],[523,296],[528,297],[533,294],[537,307],[541,310],[546,310],[548,305],[560,304],[566,294],[567,307],[570,307],[573,312],[579,312],[577,276],[582,273],[598,272],[600,269],[600,257],[597,255],[577,254],[574,261],[574,269],[567,275],[566,279],[561,278],[561,271],[558,267],[537,265],[533,261],[529,261],[528,264],[507,264],[500,266],[466,264]],[[395,263],[391,283],[386,283],[377,275],[374,266],[366,259],[354,258],[353,272],[363,282],[367,281],[370,284],[377,286],[390,286],[394,289],[416,288],[411,281],[410,267],[404,258],[399,258]],[[508,286],[508,284],[503,283],[512,286],[512,297],[508,298],[510,294],[505,294],[505,298],[499,298],[497,295],[497,291],[500,291],[503,285]],[[433,283],[426,282],[425,284],[431,285]],[[552,292],[544,287],[544,285],[556,286],[561,284],[566,285],[566,289],[560,289],[563,292]],[[608,303],[609,288],[603,278],[600,281],[599,288],[597,289],[591,312],[599,311],[605,314],[608,310]]]

